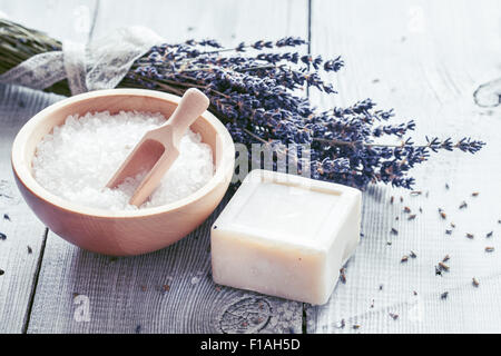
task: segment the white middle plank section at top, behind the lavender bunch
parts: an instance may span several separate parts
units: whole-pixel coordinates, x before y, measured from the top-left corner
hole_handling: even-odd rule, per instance
[[[307,37],[307,1],[102,1],[92,38],[127,26],[144,26],[167,42],[215,38],[224,46],[242,41]]]

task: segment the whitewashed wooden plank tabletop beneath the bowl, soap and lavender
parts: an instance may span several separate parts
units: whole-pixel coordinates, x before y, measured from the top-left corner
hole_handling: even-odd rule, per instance
[[[48,231],[17,191],[9,155],[20,127],[61,97],[1,86],[0,333],[501,332],[501,107],[480,108],[472,97],[501,77],[500,1],[0,0],[0,11],[75,41],[130,24],[173,42],[299,36],[311,42],[304,51],[346,62],[333,77],[340,95],[310,93],[318,106],[370,97],[415,119],[415,141],[429,134],[488,142],[474,157],[445,152],[415,169],[420,196],[370,188],[346,283],[314,307],[212,281],[208,227],[222,207],[181,241],[139,257],[90,254]],[[468,208],[459,209],[463,200]],[[422,212],[409,221],[404,206]],[[451,221],[456,228],[446,235]],[[411,250],[418,257],[401,263]],[[450,270],[439,276],[434,266],[445,255]]]

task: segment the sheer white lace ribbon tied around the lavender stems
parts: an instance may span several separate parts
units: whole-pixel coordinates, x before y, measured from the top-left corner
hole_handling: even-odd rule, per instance
[[[71,95],[115,88],[134,61],[161,37],[144,27],[122,28],[90,44],[63,42],[62,51],[33,56],[0,76],[1,83],[46,89],[67,78]]]

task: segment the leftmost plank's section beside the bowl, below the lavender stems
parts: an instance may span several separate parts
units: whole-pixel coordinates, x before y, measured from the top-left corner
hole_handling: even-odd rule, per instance
[[[0,333],[23,329],[46,228],[22,200],[13,181],[10,150],[16,134],[58,97],[0,86]],[[6,215],[6,216],[4,216]]]

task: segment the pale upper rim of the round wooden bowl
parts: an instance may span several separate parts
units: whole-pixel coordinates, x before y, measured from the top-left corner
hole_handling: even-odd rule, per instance
[[[47,117],[50,116],[51,112],[59,110],[66,106],[70,106],[81,100],[88,100],[99,97],[106,96],[138,96],[138,97],[150,97],[155,99],[166,100],[170,102],[178,103],[180,97],[170,95],[163,91],[149,90],[149,89],[104,89],[104,90],[95,90],[85,93],[80,93],[73,97],[69,97],[67,99],[57,101],[43,110],[39,111],[31,119],[29,119],[23,127],[19,130],[16,139],[12,144],[11,151],[11,165],[14,175],[18,180],[28,189],[32,195],[37,196],[39,199],[56,206],[59,209],[86,215],[91,217],[100,217],[100,218],[135,218],[135,217],[149,217],[156,216],[165,212],[171,212],[178,210],[187,205],[196,202],[212,190],[214,190],[222,181],[232,179],[233,167],[235,165],[235,145],[229,135],[226,127],[217,119],[213,113],[206,110],[203,115],[200,115],[206,121],[208,121],[216,134],[222,139],[222,160],[219,167],[216,168],[213,178],[207,181],[200,189],[190,194],[189,196],[176,200],[166,205],[161,205],[158,207],[143,208],[137,210],[107,210],[101,208],[88,207],[80,204],[75,204],[68,201],[67,199],[59,197],[46,188],[43,188],[32,176],[30,169],[28,167],[31,166],[31,161],[27,162],[24,157],[26,152],[26,144],[28,138],[31,136],[33,129],[38,127],[40,122],[42,122]],[[232,175],[228,176],[228,169],[232,170]]]

